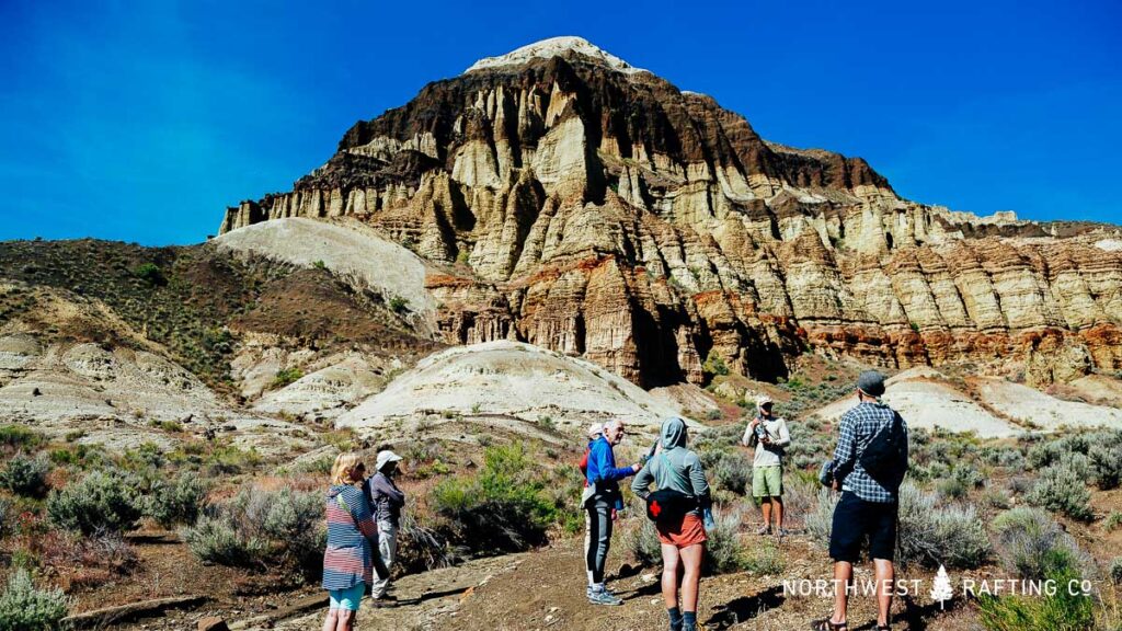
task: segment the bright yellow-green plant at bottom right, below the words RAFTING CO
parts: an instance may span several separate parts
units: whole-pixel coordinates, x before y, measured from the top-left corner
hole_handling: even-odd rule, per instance
[[[978,597],[978,618],[987,631],[1086,631],[1094,627],[1095,600],[1073,595],[1067,587],[1070,580],[1083,579],[1072,559],[1054,550],[1045,565],[1046,577],[1056,582],[1055,595]]]

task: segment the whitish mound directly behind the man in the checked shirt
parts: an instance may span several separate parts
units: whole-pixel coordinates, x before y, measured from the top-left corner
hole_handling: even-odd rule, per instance
[[[884,402],[899,411],[910,428],[974,431],[986,438],[1013,436],[1021,431],[1013,423],[990,413],[968,394],[944,379],[932,368],[904,371],[889,379]],[[856,399],[847,396],[821,408],[817,414],[836,421],[855,404]]]

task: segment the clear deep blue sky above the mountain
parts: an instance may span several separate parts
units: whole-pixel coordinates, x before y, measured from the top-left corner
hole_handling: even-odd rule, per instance
[[[1122,220],[1118,2],[0,2],[0,239],[148,245],[479,57],[579,35],[956,210]]]

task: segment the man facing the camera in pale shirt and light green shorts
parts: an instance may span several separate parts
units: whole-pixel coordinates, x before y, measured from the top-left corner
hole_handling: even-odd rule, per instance
[[[752,496],[760,502],[764,513],[764,524],[757,534],[771,534],[772,514],[775,515],[775,531],[787,536],[783,529],[783,454],[791,443],[787,420],[772,412],[774,402],[766,394],[756,397],[757,414],[744,430],[741,442],[756,449],[752,460]]]

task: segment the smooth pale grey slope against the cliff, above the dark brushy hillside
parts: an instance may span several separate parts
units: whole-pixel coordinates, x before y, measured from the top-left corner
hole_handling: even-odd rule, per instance
[[[433,329],[435,303],[425,292],[425,265],[404,246],[386,240],[358,221],[316,221],[291,217],[246,226],[214,239],[219,248],[252,253],[302,266],[319,265],[375,290],[390,301],[407,301],[419,332]]]

